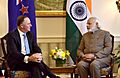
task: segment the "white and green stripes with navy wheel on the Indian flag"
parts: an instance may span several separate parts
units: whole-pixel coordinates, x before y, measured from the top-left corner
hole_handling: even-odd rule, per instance
[[[85,0],[67,0],[66,10],[66,49],[75,63],[80,40],[87,32],[86,22],[90,11]]]

